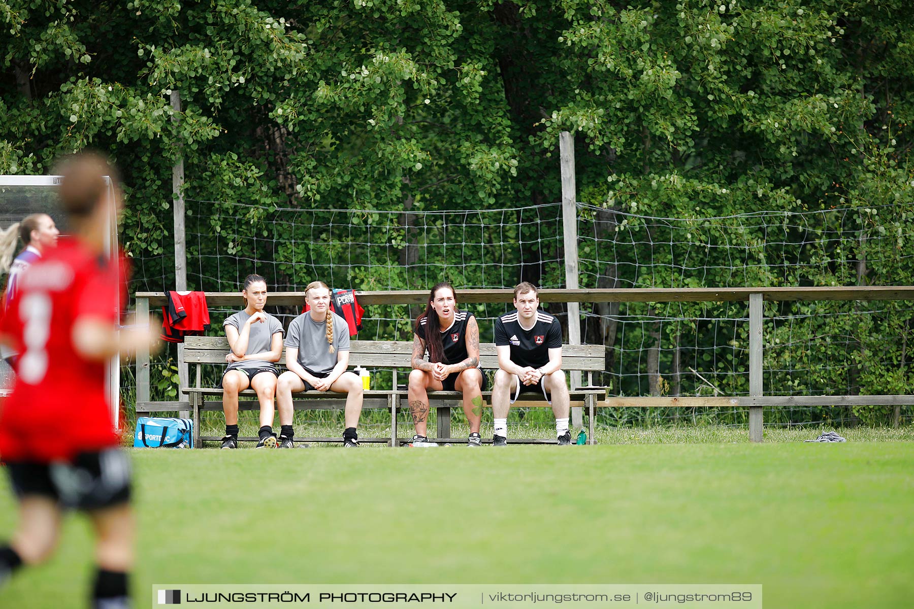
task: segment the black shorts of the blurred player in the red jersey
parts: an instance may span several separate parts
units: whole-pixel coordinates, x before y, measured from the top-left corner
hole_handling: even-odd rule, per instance
[[[64,508],[94,510],[128,503],[130,458],[120,448],[80,453],[71,463],[11,461],[6,471],[16,497],[39,495]]]

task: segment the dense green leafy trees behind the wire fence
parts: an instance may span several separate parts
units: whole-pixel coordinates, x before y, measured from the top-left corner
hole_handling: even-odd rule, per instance
[[[202,257],[213,251],[269,258],[286,283],[332,270],[335,257],[372,257],[388,270],[353,264],[345,279],[412,288],[417,268],[437,272],[449,238],[443,224],[420,230],[420,213],[558,201],[558,133],[573,131],[579,200],[592,205],[581,213],[594,236],[582,243],[586,287],[910,284],[912,19],[902,0],[0,0],[0,172],[46,173],[85,146],[112,154],[128,186],[122,243],[145,288],[173,278],[178,158],[186,197],[215,202],[189,219],[202,236],[189,250],[199,277],[218,276]],[[289,207],[314,210],[314,226],[328,221],[319,210],[367,210],[350,226],[361,245],[303,226],[270,235]],[[763,223],[740,219],[761,211]],[[398,212],[397,226],[379,236],[370,212]],[[798,227],[794,212],[823,213]],[[678,224],[658,228],[657,217]],[[525,278],[562,284],[552,227],[505,235],[541,237],[525,260],[552,262],[526,265]],[[271,238],[278,247],[264,245]],[[509,250],[499,259],[519,264]],[[485,285],[481,266],[451,272]],[[909,308],[852,306],[769,305],[795,317],[769,332],[772,391],[910,385],[907,342],[887,340],[907,335]],[[684,320],[630,333],[648,351],[632,378],[649,383],[617,390],[696,391],[664,389],[664,374],[681,372],[673,353],[707,349],[727,391],[747,390],[745,331],[719,336],[696,321],[732,310],[624,312]],[[617,327],[588,337],[611,346],[611,370]],[[777,346],[804,341],[815,348]]]

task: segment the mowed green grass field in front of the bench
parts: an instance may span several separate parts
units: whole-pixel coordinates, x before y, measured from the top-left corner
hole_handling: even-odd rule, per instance
[[[814,434],[812,435],[814,437]],[[133,451],[154,583],[761,583],[914,604],[914,443]],[[0,535],[15,504],[0,494]],[[84,519],[0,606],[83,606]]]

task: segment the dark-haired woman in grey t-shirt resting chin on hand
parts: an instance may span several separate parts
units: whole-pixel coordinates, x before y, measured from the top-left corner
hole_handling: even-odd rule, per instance
[[[223,448],[238,447],[238,394],[250,387],[260,400],[260,440],[258,448],[275,448],[273,398],[276,394],[276,362],[282,357],[282,323],[263,312],[267,304],[267,281],[260,275],[244,280],[241,297],[247,306],[228,316],[223,323],[228,346],[228,368],[222,376],[222,411],[226,415]],[[282,422],[282,421],[281,421]],[[290,421],[291,423],[291,421]]]

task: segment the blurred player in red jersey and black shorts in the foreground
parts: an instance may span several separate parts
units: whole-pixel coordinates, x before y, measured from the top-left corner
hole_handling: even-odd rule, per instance
[[[0,342],[20,353],[13,393],[0,405],[0,458],[19,504],[19,525],[0,543],[0,585],[22,565],[48,559],[64,509],[86,511],[95,531],[91,606],[130,606],[133,509],[130,461],[118,447],[105,392],[105,362],[152,341],[149,328],[117,331],[124,281],[105,257],[121,193],[112,167],[83,153],[60,173],[60,203],[73,239],[48,250],[20,279],[0,320]]]

